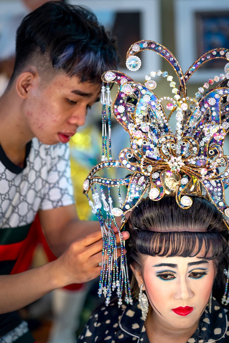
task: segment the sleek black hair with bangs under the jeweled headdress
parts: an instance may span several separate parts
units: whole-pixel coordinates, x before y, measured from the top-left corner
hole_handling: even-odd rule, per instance
[[[172,196],[164,196],[160,201],[142,200],[125,226],[130,233],[126,241],[128,263],[141,269],[141,254],[193,257],[201,252],[202,258],[214,260],[214,295],[221,300],[224,269],[228,269],[228,229],[213,204],[196,196],[192,200],[192,206],[185,210]],[[136,295],[136,282],[133,287]]]

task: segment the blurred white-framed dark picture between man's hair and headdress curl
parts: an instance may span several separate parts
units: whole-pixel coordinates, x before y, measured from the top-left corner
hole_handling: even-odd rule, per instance
[[[142,81],[152,69],[160,69],[160,58],[152,51],[137,54],[142,61],[138,71],[131,72],[125,65],[126,53],[131,44],[141,39],[160,42],[159,0],[69,0],[68,2],[89,7],[105,28],[117,37],[121,71],[135,80]]]

